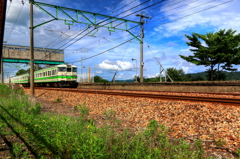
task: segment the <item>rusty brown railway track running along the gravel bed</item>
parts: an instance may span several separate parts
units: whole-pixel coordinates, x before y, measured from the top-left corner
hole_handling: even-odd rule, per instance
[[[29,88],[27,88],[27,89],[29,89]],[[119,91],[117,92],[117,91],[100,91],[100,90],[81,90],[81,89],[69,89],[69,88],[36,87],[35,89],[67,91],[67,92],[75,92],[75,93],[128,96],[128,97],[135,97],[135,98],[137,97],[137,98],[152,98],[152,99],[164,99],[164,100],[182,100],[182,101],[190,101],[190,102],[209,102],[209,103],[220,103],[220,104],[224,104],[224,105],[240,105],[240,100],[233,99],[233,98],[196,97],[196,96],[186,96],[186,95],[183,95],[183,96],[182,95],[163,95],[163,94],[152,94],[152,93],[128,93],[128,92],[119,92]],[[193,93],[193,92],[191,92],[191,93]],[[221,95],[222,94],[223,93],[221,93]],[[229,93],[224,94],[224,95],[229,95]]]

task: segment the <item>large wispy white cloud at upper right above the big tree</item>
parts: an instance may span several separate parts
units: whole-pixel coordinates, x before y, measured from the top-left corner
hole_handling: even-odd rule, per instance
[[[186,5],[184,7],[174,9],[174,12],[168,12],[168,9],[161,10],[161,12],[164,14],[164,15],[161,15],[161,17],[164,16],[168,18],[168,20],[166,20],[165,22],[172,21],[172,20],[184,17],[186,15],[189,15],[191,13],[195,13],[213,6],[217,6],[221,3],[227,2],[227,0],[218,0],[212,3],[207,3],[209,2],[207,0],[201,0],[195,3],[188,4],[189,2],[190,1],[184,2],[186,3]],[[181,3],[181,4],[184,4],[184,3]],[[207,3],[207,4],[202,5],[204,3]],[[239,1],[232,1],[230,3],[213,7],[209,10],[184,17],[176,21],[166,23],[165,25],[159,26],[154,30],[161,32],[165,37],[179,35],[181,34],[181,32],[184,32],[188,29],[191,29],[197,26],[198,27],[199,26],[214,27],[214,31],[219,31],[220,29],[229,29],[229,28],[238,30],[240,25],[240,16],[239,16],[239,8],[237,6],[239,5],[240,5]],[[200,6],[200,7],[190,9],[195,6]],[[186,11],[181,12],[184,10]],[[177,13],[177,14],[174,15],[173,13]],[[156,17],[156,19],[157,18],[159,18],[159,16]]]

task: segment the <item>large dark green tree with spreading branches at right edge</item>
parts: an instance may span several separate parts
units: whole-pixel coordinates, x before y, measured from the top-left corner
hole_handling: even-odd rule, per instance
[[[232,29],[224,29],[216,33],[185,35],[190,41],[186,44],[193,47],[190,50],[194,55],[179,56],[196,65],[209,66],[211,81],[214,79],[214,67],[217,67],[218,80],[221,71],[236,71],[233,65],[240,64],[240,34],[235,33]],[[204,41],[206,46],[200,40]]]

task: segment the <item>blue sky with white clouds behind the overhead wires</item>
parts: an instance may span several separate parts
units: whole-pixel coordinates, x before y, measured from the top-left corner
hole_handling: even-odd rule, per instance
[[[185,44],[187,41],[185,34],[190,35],[192,32],[205,34],[230,28],[239,32],[240,27],[239,0],[39,0],[38,2],[136,22],[139,22],[136,14],[145,14],[149,17],[145,19],[144,24],[143,61],[144,77],[147,78],[159,74],[159,62],[164,69],[175,67],[183,69],[185,73],[205,71],[204,66],[195,66],[179,57],[179,55],[192,54]],[[55,9],[43,8],[55,15]],[[66,13],[73,18],[76,17],[72,11]],[[92,15],[84,13],[84,16],[94,21]],[[59,18],[70,20],[61,12]],[[53,19],[51,16],[34,6],[34,25],[51,19]],[[78,21],[88,22],[80,14]],[[96,21],[101,25],[110,26],[107,18],[97,17]],[[113,21],[112,26],[120,23],[121,21]],[[117,28],[125,29],[126,25],[121,24]],[[129,22],[128,29],[130,28],[132,34],[139,36],[140,27],[137,24]],[[116,71],[118,80],[131,79],[136,72],[139,74],[140,44],[129,32],[117,29],[109,31],[106,27],[93,29],[93,26],[86,24],[65,25],[63,20],[55,20],[34,29],[34,45],[64,49],[65,62],[78,66],[79,74],[81,59],[83,59],[82,66],[90,66],[91,72],[108,80],[112,79]],[[12,0],[12,2],[8,0],[4,41],[7,41],[7,44],[29,46],[28,0]],[[28,67],[24,67],[23,64],[4,66],[9,74],[13,74],[19,68]],[[85,72],[86,69],[83,68],[82,73]]]

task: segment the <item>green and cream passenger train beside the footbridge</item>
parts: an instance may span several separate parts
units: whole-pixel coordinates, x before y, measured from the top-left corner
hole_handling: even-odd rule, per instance
[[[15,76],[9,79],[11,83],[30,86],[29,73]],[[62,64],[53,67],[43,68],[34,72],[35,86],[77,86],[77,67],[74,65]]]

